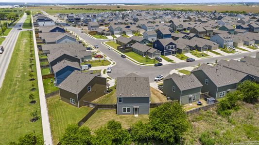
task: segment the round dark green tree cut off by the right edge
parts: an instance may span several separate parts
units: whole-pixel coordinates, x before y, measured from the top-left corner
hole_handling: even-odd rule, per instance
[[[248,103],[257,102],[259,99],[259,84],[252,81],[244,81],[238,84],[237,89],[243,95],[243,101]]]

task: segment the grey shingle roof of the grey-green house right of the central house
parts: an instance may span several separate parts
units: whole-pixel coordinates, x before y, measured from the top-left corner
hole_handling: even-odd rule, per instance
[[[181,91],[203,86],[193,74],[182,76],[173,73],[164,78],[164,80],[167,79],[173,79],[173,82]]]

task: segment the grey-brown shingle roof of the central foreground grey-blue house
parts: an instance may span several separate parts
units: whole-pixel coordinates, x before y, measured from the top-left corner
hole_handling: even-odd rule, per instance
[[[117,97],[150,97],[148,77],[141,77],[130,73],[124,77],[117,77]]]

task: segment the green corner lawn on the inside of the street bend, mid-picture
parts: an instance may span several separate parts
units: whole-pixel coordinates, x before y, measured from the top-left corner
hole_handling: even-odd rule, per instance
[[[145,58],[145,57],[142,57],[140,55],[138,55],[137,53],[135,52],[125,52],[124,53],[125,55],[129,56],[130,58],[138,61],[139,63],[145,63],[145,64],[155,64],[157,63],[158,61],[156,61],[154,58],[151,59],[151,58]]]

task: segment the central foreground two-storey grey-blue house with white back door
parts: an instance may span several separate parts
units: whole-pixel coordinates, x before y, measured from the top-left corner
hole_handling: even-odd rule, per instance
[[[135,73],[117,77],[116,96],[118,115],[149,114],[149,77],[141,77]]]

